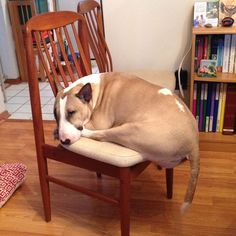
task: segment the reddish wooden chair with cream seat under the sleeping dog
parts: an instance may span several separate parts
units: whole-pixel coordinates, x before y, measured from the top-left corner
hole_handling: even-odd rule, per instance
[[[83,37],[80,38],[76,30],[77,23],[80,24],[80,30],[83,31]],[[36,75],[35,46],[33,44],[36,44],[49,83],[56,95],[55,81],[57,83],[63,82],[66,87],[70,81],[73,82],[83,75],[91,73],[85,56],[87,49],[82,47],[82,45],[85,45],[86,42],[89,43],[91,40],[88,37],[87,26],[83,16],[76,12],[64,11],[45,13],[32,17],[27,23],[26,32],[30,99],[45,220],[51,220],[49,182],[53,182],[118,206],[120,208],[121,235],[129,235],[131,180],[138,176],[150,162],[144,160],[139,153],[112,143],[81,138],[76,146],[71,145],[71,148],[65,149],[60,144],[58,146],[47,144],[44,138],[39,85]],[[46,39],[42,37],[42,35],[45,36],[45,32],[46,36],[48,36]],[[71,69],[72,64],[67,59],[63,39],[68,42],[74,70]],[[80,53],[80,61],[76,57],[77,50]],[[64,58],[65,66],[60,63],[61,56]],[[84,73],[81,69],[82,66]],[[48,159],[117,178],[120,181],[119,198],[112,198],[50,175],[47,165]],[[166,170],[166,180],[167,197],[171,198],[172,169]]]

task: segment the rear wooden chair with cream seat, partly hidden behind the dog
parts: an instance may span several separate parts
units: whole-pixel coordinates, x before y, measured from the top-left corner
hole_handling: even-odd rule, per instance
[[[77,12],[86,19],[90,36],[93,39],[90,48],[97,62],[99,72],[113,71],[111,53],[104,37],[101,6],[95,0],[80,1],[77,5]],[[166,87],[172,92],[175,90],[175,75],[170,71],[138,70],[125,72]]]

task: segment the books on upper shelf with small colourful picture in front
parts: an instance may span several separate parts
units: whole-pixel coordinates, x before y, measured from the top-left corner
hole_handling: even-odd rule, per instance
[[[197,35],[195,72],[216,77],[217,72],[236,73],[236,35]]]

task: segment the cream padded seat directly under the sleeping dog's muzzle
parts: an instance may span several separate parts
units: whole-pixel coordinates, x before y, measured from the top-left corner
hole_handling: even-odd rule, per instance
[[[62,146],[74,153],[117,167],[130,167],[146,161],[140,153],[132,149],[114,143],[101,142],[83,137],[69,146]]]

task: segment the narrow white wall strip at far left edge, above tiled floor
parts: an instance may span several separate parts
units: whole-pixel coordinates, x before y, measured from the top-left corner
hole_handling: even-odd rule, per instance
[[[3,73],[8,79],[15,79],[19,77],[19,71],[6,0],[0,0],[0,22],[0,57]]]

